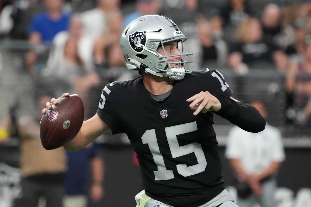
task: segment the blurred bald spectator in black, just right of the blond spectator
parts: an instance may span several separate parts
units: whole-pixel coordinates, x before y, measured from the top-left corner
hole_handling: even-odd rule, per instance
[[[263,37],[276,45],[280,45],[281,8],[273,3],[268,4],[262,12],[261,23]]]

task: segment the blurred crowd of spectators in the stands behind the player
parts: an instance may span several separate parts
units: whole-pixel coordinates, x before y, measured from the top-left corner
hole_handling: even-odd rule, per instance
[[[126,25],[148,14],[179,25],[186,52],[195,54],[194,70],[277,71],[285,77],[286,121],[306,124],[311,117],[310,1],[2,0],[0,9],[2,39],[29,42],[29,75],[78,93],[87,117],[98,88],[138,76],[124,67],[118,41]],[[43,63],[42,45],[50,48]]]

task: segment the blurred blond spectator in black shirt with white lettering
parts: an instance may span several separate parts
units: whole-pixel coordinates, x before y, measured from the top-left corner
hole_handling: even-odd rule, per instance
[[[248,17],[239,26],[236,43],[230,47],[228,65],[238,74],[248,68],[276,68],[285,70],[287,56],[275,44],[263,38],[257,18]]]

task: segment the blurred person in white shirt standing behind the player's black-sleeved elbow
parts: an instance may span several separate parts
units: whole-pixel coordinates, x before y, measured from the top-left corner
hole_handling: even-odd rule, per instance
[[[263,117],[267,116],[260,100],[250,102]],[[246,132],[233,127],[228,135],[225,156],[230,159],[238,184],[239,207],[275,207],[276,173],[285,159],[280,131],[266,124],[259,133]]]

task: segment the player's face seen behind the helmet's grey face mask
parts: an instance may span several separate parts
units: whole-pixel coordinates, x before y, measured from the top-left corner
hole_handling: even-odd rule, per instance
[[[168,43],[164,43],[164,48],[159,47],[158,52],[162,56],[169,56],[169,55],[179,55],[181,52],[178,49],[178,42],[177,41],[172,41]],[[164,54],[165,51],[165,54]],[[168,57],[167,60],[168,62],[180,62],[183,56],[173,56],[173,57]],[[170,64],[171,67],[180,67],[181,64]]]

